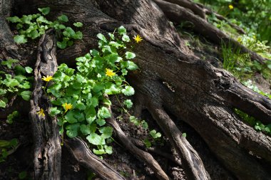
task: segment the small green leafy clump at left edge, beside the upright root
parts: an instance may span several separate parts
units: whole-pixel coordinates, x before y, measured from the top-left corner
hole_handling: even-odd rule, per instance
[[[13,65],[19,60],[8,59],[3,60],[1,65],[6,66],[10,70],[14,70],[14,75],[0,71],[0,107],[6,107],[9,102],[9,97],[12,95],[19,95],[24,100],[29,100],[31,96],[31,80],[33,77],[29,76],[32,73],[32,68],[22,67],[21,65]]]

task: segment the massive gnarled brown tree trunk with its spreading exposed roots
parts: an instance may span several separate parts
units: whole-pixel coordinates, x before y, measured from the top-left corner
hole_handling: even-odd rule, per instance
[[[143,108],[148,109],[178,152],[184,165],[185,176],[188,179],[210,179],[200,155],[182,137],[180,129],[175,125],[178,121],[186,122],[195,129],[208,145],[213,156],[218,158],[237,179],[270,179],[271,138],[246,125],[232,109],[236,107],[262,122],[271,123],[271,100],[245,88],[227,71],[215,68],[194,55],[166,18],[167,16],[172,18],[172,21],[180,22],[180,19],[172,16],[174,14],[170,11],[170,7],[178,6],[172,3],[170,5],[161,0],[20,0],[12,5],[0,0],[0,57],[22,58],[29,61],[35,59],[24,53],[27,50],[23,50],[22,46],[16,46],[12,40],[8,23],[4,21],[6,16],[10,16],[11,6],[19,10],[19,14],[33,14],[38,7],[50,6],[51,18],[65,13],[70,22],[81,21],[84,24],[83,41],[78,41],[65,50],[55,52],[55,49],[40,48],[43,47],[41,39],[35,70],[35,75],[39,75],[39,79],[41,73],[51,75],[56,70],[57,63],[74,65],[76,57],[96,47],[97,33],[112,32],[123,25],[132,36],[138,33],[143,37],[142,43],[133,50],[137,55],[135,61],[140,67],[140,73],[129,75],[129,81],[135,88],[138,98],[136,106],[140,107],[137,112],[141,112]],[[164,8],[162,6],[164,4],[168,8]],[[188,5],[186,4],[185,8],[189,8]],[[180,6],[178,8],[185,9]],[[199,11],[199,9],[200,7],[194,4],[192,11]],[[188,14],[193,12],[188,10]],[[194,16],[193,14],[195,19]],[[200,24],[211,26],[204,21],[204,14],[201,16],[203,19],[198,26]],[[220,33],[214,33],[213,28],[212,31],[208,31],[208,28],[198,28],[197,31],[201,31],[200,33],[208,35],[208,38],[215,39],[217,42],[225,38]],[[53,41],[52,35],[46,35],[44,38],[46,37]],[[39,65],[39,55],[44,54],[43,57],[46,57],[48,53],[53,53],[50,57],[57,60],[57,63],[54,61]],[[255,53],[251,52],[251,54],[257,60],[264,60]],[[39,72],[45,67],[47,69],[44,72]],[[35,91],[38,86],[40,94]],[[51,123],[36,125],[34,112],[37,110],[36,107],[40,106],[42,98],[41,82],[36,81],[30,114],[35,137],[34,178],[60,179],[59,159],[67,157],[61,157],[56,119],[50,120]],[[46,107],[49,106],[48,103]],[[46,120],[49,120],[47,115]],[[128,137],[123,134],[117,122],[113,119],[108,122],[115,129],[116,137],[125,143]],[[78,139],[66,141],[64,147],[69,149],[78,162],[95,171],[103,179],[110,179],[108,174],[113,174],[112,179],[123,179],[106,162],[97,161],[87,146],[82,145],[83,142],[80,141]],[[167,172],[161,169],[150,154],[137,149],[133,141],[127,141],[126,149],[140,161],[148,164],[158,179],[170,179]],[[81,153],[74,150],[76,146],[80,146]],[[83,161],[85,156],[88,162]],[[93,164],[90,163],[91,161]],[[108,174],[104,174],[102,169],[108,169]]]

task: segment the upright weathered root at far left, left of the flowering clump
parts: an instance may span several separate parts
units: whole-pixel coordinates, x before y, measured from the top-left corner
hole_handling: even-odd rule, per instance
[[[53,75],[56,72],[56,41],[51,34],[44,34],[39,41],[39,53],[34,69],[34,90],[31,99],[31,119],[34,137],[34,178],[60,179],[61,146],[56,117],[37,115],[44,109],[48,112],[50,103],[42,89],[42,75]]]

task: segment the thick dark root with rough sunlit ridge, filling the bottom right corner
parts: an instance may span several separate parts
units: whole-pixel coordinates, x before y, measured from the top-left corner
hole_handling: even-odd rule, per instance
[[[245,125],[218,104],[207,103],[203,110],[205,115],[192,124],[227,169],[238,179],[268,179],[270,171],[259,160],[262,157],[270,162],[271,138]]]

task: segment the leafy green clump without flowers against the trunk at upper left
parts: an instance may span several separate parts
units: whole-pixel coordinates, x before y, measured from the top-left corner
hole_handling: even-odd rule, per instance
[[[66,48],[67,46],[73,45],[73,40],[83,38],[81,31],[74,31],[73,28],[65,26],[63,23],[68,22],[68,17],[65,14],[58,16],[56,21],[48,21],[45,16],[50,13],[50,8],[39,8],[41,14],[24,15],[21,18],[17,16],[6,18],[11,23],[17,23],[16,29],[18,35],[14,36],[14,41],[18,44],[26,43],[29,38],[36,39],[42,36],[46,30],[53,28],[58,34],[58,39],[61,41],[57,42],[58,48]],[[73,23],[75,28],[81,28],[83,23]]]

